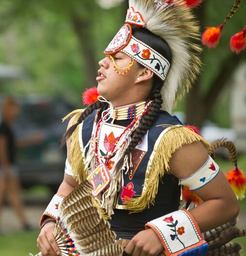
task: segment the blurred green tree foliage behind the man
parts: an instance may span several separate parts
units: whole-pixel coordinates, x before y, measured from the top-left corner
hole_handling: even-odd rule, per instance
[[[206,25],[221,24],[232,2],[203,1],[202,31]],[[97,62],[104,57],[103,50],[123,24],[123,4],[125,3],[105,10],[98,5],[97,0],[1,0],[0,62],[23,67],[26,78],[1,81],[0,92],[52,94],[79,104],[78,94],[88,87],[88,60],[82,54],[86,45],[79,40],[72,20],[79,18],[83,21],[84,26],[81,29],[87,36],[87,44],[93,50],[91,61]],[[236,15],[223,29],[218,47],[204,49],[201,94],[209,90],[213,79],[230,56],[242,58],[242,55],[237,56],[230,52],[229,39],[243,29],[245,13],[246,2],[243,1]],[[96,70],[94,72],[96,77]],[[220,113],[222,106],[228,108],[228,102],[225,98],[221,100],[218,103],[221,107],[214,112],[212,119],[227,127],[230,124],[229,118],[222,117]],[[221,102],[224,103],[220,104]],[[183,110],[184,104],[178,104],[177,109]]]

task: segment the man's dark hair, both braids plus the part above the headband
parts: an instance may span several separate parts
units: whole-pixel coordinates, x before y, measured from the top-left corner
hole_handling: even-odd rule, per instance
[[[164,56],[170,64],[172,64],[172,53],[169,45],[164,39],[154,35],[146,28],[142,28],[139,26],[132,25],[132,35],[141,40],[142,42],[149,45],[151,48],[156,50],[162,56]],[[141,68],[144,68],[141,64],[138,63]],[[141,143],[142,138],[147,133],[147,131],[152,126],[155,118],[158,116],[162,105],[162,96],[161,96],[161,89],[163,87],[163,81],[154,74],[153,76],[153,83],[152,89],[150,92],[149,98],[153,100],[152,105],[146,115],[141,118],[139,127],[134,132],[133,138],[131,139],[130,144],[128,145],[127,149],[125,150],[124,155],[129,154],[138,144]],[[101,102],[99,100],[90,104],[84,112],[81,113],[81,116],[78,118],[77,123],[72,125],[68,131],[64,134],[62,138],[62,145],[66,143],[66,140],[70,138],[76,127],[90,115],[94,110],[106,106],[107,103]]]

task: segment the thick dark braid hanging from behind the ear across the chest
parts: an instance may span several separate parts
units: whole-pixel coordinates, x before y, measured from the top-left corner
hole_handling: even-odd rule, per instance
[[[139,127],[136,129],[129,146],[125,150],[124,155],[129,154],[141,142],[144,135],[152,126],[155,118],[158,116],[161,104],[163,102],[160,89],[161,86],[159,86],[157,89],[152,90],[153,103],[150,106],[148,113],[141,118]]]

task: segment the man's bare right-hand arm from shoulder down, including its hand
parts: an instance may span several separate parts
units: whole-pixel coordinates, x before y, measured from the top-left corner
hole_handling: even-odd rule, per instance
[[[169,161],[170,171],[179,179],[189,177],[201,168],[208,158],[208,152],[200,141],[183,145],[172,154]],[[202,232],[218,227],[238,215],[237,198],[221,171],[204,187],[195,190],[195,193],[204,202],[194,208],[191,215]],[[171,217],[172,213],[169,216],[170,221]],[[165,222],[164,218],[161,220]],[[139,232],[125,248],[125,252],[132,256],[156,256],[163,250],[161,239],[152,228]]]

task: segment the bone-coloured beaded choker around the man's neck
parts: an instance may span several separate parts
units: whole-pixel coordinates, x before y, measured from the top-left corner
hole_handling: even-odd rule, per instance
[[[135,104],[114,108],[111,118],[113,120],[134,120],[141,116],[147,103],[147,100],[143,100]]]

